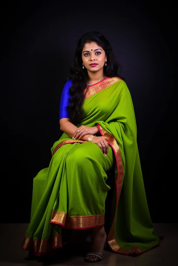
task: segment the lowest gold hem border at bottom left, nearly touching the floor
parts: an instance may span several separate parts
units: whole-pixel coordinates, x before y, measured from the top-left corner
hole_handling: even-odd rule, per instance
[[[54,234],[52,239],[32,239],[25,236],[21,249],[34,251],[35,256],[41,256],[48,252],[50,253],[50,251],[56,248],[61,248],[62,246],[61,234],[59,234],[59,236]]]

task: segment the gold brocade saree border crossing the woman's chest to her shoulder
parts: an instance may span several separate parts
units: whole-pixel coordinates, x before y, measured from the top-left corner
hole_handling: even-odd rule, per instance
[[[109,86],[115,84],[116,82],[122,80],[122,78],[119,77],[109,77],[105,78],[104,80],[101,80],[97,83],[95,83],[92,86],[88,86],[88,88],[84,89],[84,100],[90,98],[94,94],[100,92],[101,90],[104,90],[108,88]]]

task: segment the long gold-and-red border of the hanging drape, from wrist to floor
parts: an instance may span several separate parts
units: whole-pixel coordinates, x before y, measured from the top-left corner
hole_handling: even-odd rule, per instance
[[[115,223],[115,216],[116,216],[116,212],[117,212],[117,206],[118,206],[118,202],[119,202],[119,198],[121,195],[121,189],[122,189],[122,180],[123,180],[123,164],[122,164],[122,157],[121,157],[121,151],[119,148],[119,145],[116,141],[116,139],[114,138],[113,135],[109,134],[107,131],[105,131],[99,124],[97,124],[99,131],[101,133],[102,136],[105,137],[105,139],[107,140],[107,142],[109,143],[109,145],[112,147],[113,151],[114,151],[114,155],[115,155],[115,159],[116,159],[116,165],[117,165],[117,178],[116,178],[116,209],[115,209],[115,215],[114,215],[114,219],[112,222],[112,226],[110,228],[108,237],[107,237],[107,242],[108,245],[110,246],[110,248],[121,255],[140,255],[148,250],[151,250],[154,247],[159,246],[160,244],[160,240],[159,240],[159,244],[149,248],[148,250],[140,250],[137,246],[134,246],[132,249],[124,249],[121,248],[119,246],[119,244],[117,243],[117,240],[115,238],[115,234],[114,234],[114,223]]]

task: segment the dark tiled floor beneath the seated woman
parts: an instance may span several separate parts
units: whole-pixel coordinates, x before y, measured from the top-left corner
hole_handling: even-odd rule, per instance
[[[1,266],[82,266],[92,265],[84,262],[82,256],[69,258],[58,258],[56,261],[39,262],[36,260],[27,261],[28,252],[20,249],[21,242],[25,235],[28,224],[0,224],[1,231]],[[161,245],[153,250],[145,252],[138,257],[128,257],[116,253],[104,251],[103,261],[94,265],[109,266],[173,266],[178,265],[177,256],[177,223],[156,223],[155,232],[164,236]]]

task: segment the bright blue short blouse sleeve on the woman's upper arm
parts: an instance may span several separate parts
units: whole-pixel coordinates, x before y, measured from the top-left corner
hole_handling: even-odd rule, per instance
[[[70,118],[70,113],[67,109],[67,106],[70,104],[69,98],[71,95],[69,93],[69,89],[72,86],[72,81],[67,81],[64,85],[63,92],[61,95],[61,102],[60,102],[60,113],[59,113],[59,120],[61,118]]]

